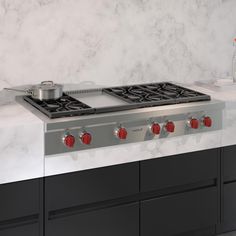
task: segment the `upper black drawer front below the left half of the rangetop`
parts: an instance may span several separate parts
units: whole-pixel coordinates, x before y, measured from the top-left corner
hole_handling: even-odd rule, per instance
[[[45,188],[47,211],[128,196],[139,191],[139,164],[47,177]]]

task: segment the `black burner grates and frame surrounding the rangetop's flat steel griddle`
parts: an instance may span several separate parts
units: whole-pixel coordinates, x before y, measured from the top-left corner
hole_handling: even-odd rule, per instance
[[[187,89],[172,83],[151,83],[123,87],[111,87],[94,90],[85,90],[84,93],[106,93],[126,102],[124,105],[90,107],[69,94],[83,91],[69,92],[57,100],[40,101],[30,96],[24,100],[46,114],[49,118],[81,116],[106,112],[124,111],[151,106],[171,105],[187,102],[209,101],[210,96]]]

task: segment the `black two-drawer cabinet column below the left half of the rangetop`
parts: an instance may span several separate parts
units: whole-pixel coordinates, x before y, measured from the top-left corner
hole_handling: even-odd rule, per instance
[[[138,236],[138,192],[138,162],[47,177],[45,236]]]

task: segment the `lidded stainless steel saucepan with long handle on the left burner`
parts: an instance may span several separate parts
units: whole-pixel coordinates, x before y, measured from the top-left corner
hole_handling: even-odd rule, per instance
[[[34,99],[38,100],[50,100],[58,99],[63,94],[63,86],[61,84],[54,84],[53,81],[43,81],[41,84],[33,85],[29,89],[13,89],[13,88],[4,88],[8,91],[17,91],[24,92],[27,95],[30,95]]]

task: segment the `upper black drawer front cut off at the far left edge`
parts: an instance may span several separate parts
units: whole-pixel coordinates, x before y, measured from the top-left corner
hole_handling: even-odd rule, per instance
[[[0,221],[39,213],[39,179],[0,185]]]

